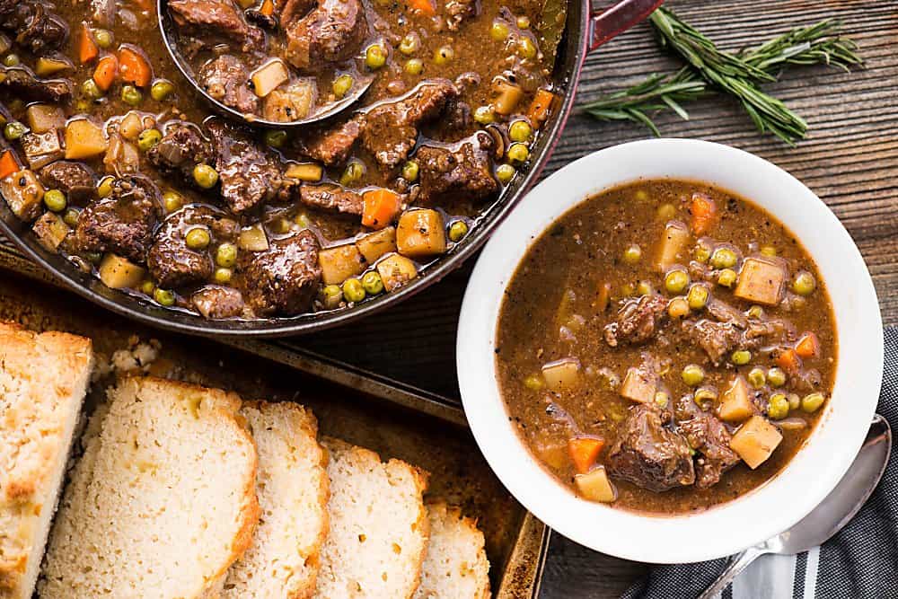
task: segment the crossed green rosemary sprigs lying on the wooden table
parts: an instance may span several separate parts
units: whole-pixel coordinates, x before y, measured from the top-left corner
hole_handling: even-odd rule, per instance
[[[714,42],[669,10],[658,9],[651,22],[662,46],[673,48],[689,66],[670,75],[649,75],[627,90],[586,104],[585,110],[596,119],[639,122],[659,135],[647,113],[669,108],[682,119],[689,119],[682,102],[718,90],[741,101],[758,129],[794,144],[806,135],[805,120],[778,99],[762,92],[758,84],[774,81],[779,70],[788,65],[825,64],[849,70],[850,66],[862,64],[856,53],[857,45],[840,37],[841,22],[832,19],[795,28],[736,54],[718,49]]]

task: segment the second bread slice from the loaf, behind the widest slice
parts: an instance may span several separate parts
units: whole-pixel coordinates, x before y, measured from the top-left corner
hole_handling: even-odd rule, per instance
[[[308,599],[315,592],[328,533],[327,454],[310,410],[283,401],[248,401],[246,418],[259,453],[261,518],[250,549],[225,581],[226,599]]]

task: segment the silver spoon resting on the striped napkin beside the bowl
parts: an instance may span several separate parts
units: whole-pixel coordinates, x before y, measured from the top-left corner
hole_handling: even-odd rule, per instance
[[[845,477],[823,502],[785,533],[733,556],[723,574],[699,599],[709,599],[723,591],[749,564],[765,553],[795,555],[813,549],[841,531],[858,513],[883,478],[892,451],[892,429],[885,418],[876,414],[867,439]]]

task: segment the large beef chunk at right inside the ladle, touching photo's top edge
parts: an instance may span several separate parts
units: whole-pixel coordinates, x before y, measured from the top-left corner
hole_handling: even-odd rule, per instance
[[[295,18],[298,13],[291,10],[286,15]],[[354,57],[368,33],[365,8],[358,0],[321,0],[302,19],[286,22],[282,18],[281,25],[286,34],[286,60],[302,71]]]

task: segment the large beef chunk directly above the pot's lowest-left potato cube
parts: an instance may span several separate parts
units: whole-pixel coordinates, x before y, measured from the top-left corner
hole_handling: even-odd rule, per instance
[[[78,216],[75,251],[111,251],[142,264],[161,212],[153,181],[142,175],[116,179],[109,196],[94,200]]]

